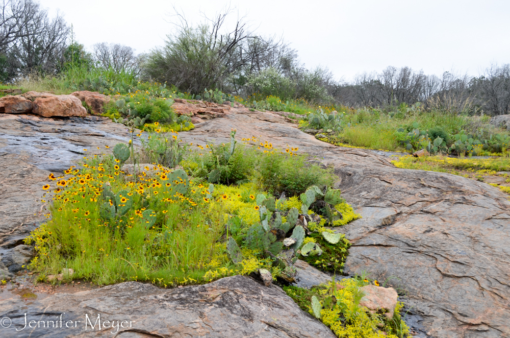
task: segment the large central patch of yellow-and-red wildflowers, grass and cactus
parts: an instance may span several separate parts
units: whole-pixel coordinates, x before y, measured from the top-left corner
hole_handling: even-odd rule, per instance
[[[275,264],[279,258],[269,254],[281,250],[276,250],[275,243],[281,246],[282,242],[262,229],[268,224],[271,229],[283,226],[288,227],[289,235],[294,234],[293,227],[301,228],[296,225],[296,207],[302,208],[302,203],[297,198],[277,202],[262,198],[267,192],[255,183],[260,179],[255,173],[265,157],[289,159],[297,155],[236,147],[227,166],[233,173],[245,175],[247,181],[213,185],[204,182],[210,173],[198,170],[210,153],[201,153],[203,146],[190,152],[192,146],[182,144],[176,132],[149,134],[136,151],[131,144],[117,144],[114,156],[91,154],[81,168],[71,167],[62,177],[49,176],[53,183],[43,186],[46,198],[51,198],[48,221],[25,240],[35,244],[37,256],[30,268],[39,279],[71,268],[74,274],[68,279],[98,284],[138,280],[169,287],[250,274],[260,268],[271,271],[275,278],[292,273],[292,267]],[[253,156],[244,156],[246,152]],[[124,168],[126,161],[135,163],[129,173]],[[137,164],[140,161],[156,164],[142,167]],[[188,173],[172,170],[177,165]],[[327,173],[320,168],[308,170]],[[276,206],[282,212],[288,210],[279,223]],[[237,258],[230,249],[231,236],[240,245]],[[297,238],[295,250],[304,236]]]

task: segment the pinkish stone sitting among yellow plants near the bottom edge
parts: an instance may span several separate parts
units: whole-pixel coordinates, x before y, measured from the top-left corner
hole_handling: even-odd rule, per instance
[[[393,318],[393,312],[397,305],[398,294],[393,287],[381,287],[366,285],[360,287],[365,296],[360,300],[360,305],[367,307],[371,313],[382,309],[386,317]]]

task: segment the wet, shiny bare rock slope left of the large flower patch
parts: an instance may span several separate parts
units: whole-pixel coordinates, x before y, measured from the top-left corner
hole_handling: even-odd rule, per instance
[[[50,173],[62,173],[85,154],[106,153],[105,146],[118,142],[127,142],[124,126],[104,117],[0,114],[0,247],[23,244],[45,220],[41,187]]]

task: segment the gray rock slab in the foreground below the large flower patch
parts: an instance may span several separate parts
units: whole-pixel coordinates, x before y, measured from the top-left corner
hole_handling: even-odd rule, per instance
[[[35,300],[30,309],[4,302],[0,318],[11,327],[2,337],[330,337],[321,322],[302,311],[277,286],[265,287],[249,277],[234,276],[206,285],[160,289],[126,282],[72,295],[56,294]],[[62,328],[23,329],[27,322],[59,320]],[[86,317],[87,316],[87,317]],[[101,329],[91,329],[99,316]],[[71,322],[72,328],[66,328]],[[77,327],[74,327],[75,321]],[[106,322],[109,321],[109,322]],[[124,328],[117,323],[123,323]],[[85,330],[85,324],[88,329]],[[51,325],[51,324],[50,324]],[[18,331],[16,331],[18,329]]]

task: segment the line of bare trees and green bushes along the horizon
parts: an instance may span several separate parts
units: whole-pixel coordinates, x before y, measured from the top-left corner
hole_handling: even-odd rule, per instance
[[[97,43],[92,53],[75,41],[62,14],[50,17],[36,0],[2,0],[0,81],[31,73],[58,76],[66,67],[99,67],[131,73],[140,80],[167,82],[182,91],[218,88],[244,97],[275,95],[282,100],[393,109],[420,102],[426,108],[469,114],[510,113],[510,65],[491,65],[479,77],[445,72],[425,75],[409,67],[363,73],[336,81],[325,67],[307,69],[282,38],[263,36],[245,17],[232,28],[225,9],[190,25],[183,14],[162,47],[136,54],[129,46]]]

